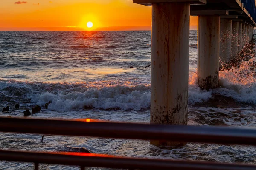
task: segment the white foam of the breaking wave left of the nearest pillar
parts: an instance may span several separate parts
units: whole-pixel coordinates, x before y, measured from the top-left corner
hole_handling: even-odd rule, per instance
[[[32,94],[32,102],[44,105],[52,101],[49,109],[70,111],[82,109],[84,106],[102,109],[120,108],[124,110],[141,110],[150,106],[150,87],[145,85],[111,86],[103,88],[74,88],[73,91],[60,91],[58,94],[49,92]]]

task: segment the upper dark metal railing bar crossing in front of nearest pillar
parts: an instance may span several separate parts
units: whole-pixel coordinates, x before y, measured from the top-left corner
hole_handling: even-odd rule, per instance
[[[149,125],[0,117],[0,131],[45,135],[256,145],[256,129],[235,127]]]

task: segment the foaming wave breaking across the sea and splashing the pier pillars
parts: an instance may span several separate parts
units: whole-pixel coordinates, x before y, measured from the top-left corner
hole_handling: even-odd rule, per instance
[[[197,74],[189,74],[189,105],[203,103],[214,95],[231,97],[238,103],[256,104],[256,76],[252,60],[239,68],[220,71],[220,88],[201,90]],[[49,109],[71,111],[76,109],[141,110],[150,107],[150,85],[135,82],[98,81],[86,83],[28,83],[0,81],[0,91],[15,94],[22,91],[24,101],[44,105],[52,101]],[[13,96],[15,98],[15,96]],[[20,99],[20,95],[17,96]]]

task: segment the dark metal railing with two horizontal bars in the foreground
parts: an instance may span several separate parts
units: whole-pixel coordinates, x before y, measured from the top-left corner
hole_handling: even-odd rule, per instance
[[[256,145],[256,129],[136,123],[0,118],[0,131],[65,136]],[[256,165],[140,159],[93,153],[0,150],[0,160],[140,170],[256,170]]]

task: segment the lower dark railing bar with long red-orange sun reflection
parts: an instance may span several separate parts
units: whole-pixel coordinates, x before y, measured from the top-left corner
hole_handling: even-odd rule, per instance
[[[251,164],[125,158],[91,153],[40,153],[0,150],[0,160],[131,170],[256,170],[256,166]]]

